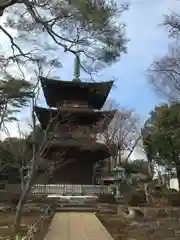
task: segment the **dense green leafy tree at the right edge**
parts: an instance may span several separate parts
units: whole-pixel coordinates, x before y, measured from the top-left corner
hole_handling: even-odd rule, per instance
[[[175,167],[177,176],[180,165],[179,109],[179,103],[163,104],[156,107],[153,111],[154,120],[150,126],[149,134],[144,135],[145,150],[150,155],[151,161],[164,166],[164,171]],[[152,119],[152,115],[150,119]]]

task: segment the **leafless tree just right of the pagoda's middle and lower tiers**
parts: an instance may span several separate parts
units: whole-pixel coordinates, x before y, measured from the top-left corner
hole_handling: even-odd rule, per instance
[[[134,111],[119,107],[103,137],[108,146],[114,145],[111,150],[114,166],[128,161],[141,138],[139,117]]]

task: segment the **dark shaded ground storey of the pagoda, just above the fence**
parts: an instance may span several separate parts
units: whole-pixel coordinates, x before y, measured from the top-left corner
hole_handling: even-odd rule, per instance
[[[38,171],[36,184],[78,184],[93,185],[96,184],[94,178],[94,166],[97,158],[90,159],[54,159],[46,161],[44,171]]]

